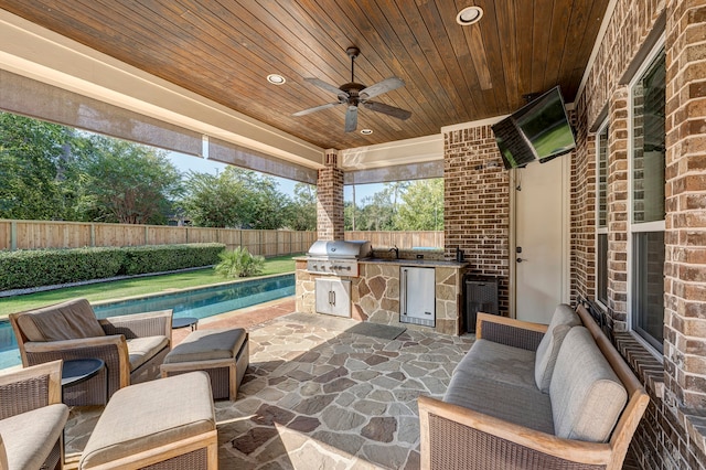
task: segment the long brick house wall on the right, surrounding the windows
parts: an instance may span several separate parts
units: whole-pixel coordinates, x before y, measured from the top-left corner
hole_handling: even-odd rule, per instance
[[[631,156],[630,102],[624,77],[643,61],[645,44],[659,36],[663,28],[667,66],[664,365],[630,333],[620,332],[629,329]],[[644,469],[706,469],[705,39],[703,0],[618,0],[586,87],[576,103],[579,148],[571,178],[573,293],[595,298],[591,270],[596,255],[590,249],[595,237],[590,221],[595,213],[584,203],[596,197],[596,156],[591,150],[595,136],[591,138],[588,129],[595,129],[607,110],[610,126],[607,314],[618,331],[620,351],[651,397],[631,444],[638,463]],[[637,168],[638,177],[639,172]]]

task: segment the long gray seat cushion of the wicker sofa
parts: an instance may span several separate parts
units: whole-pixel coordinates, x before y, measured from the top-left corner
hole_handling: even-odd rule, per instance
[[[531,429],[554,434],[549,396],[536,387],[532,389],[456,373],[451,377],[443,402]]]

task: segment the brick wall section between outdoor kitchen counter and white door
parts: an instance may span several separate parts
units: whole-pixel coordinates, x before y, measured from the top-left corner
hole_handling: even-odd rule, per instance
[[[510,181],[490,126],[443,135],[443,237],[447,259],[460,247],[473,275],[499,280],[507,314]]]

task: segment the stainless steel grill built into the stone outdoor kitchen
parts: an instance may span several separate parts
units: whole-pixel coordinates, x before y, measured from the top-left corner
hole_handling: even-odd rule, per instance
[[[366,241],[324,241],[313,243],[307,253],[307,271],[320,275],[359,277],[361,258],[372,256]]]

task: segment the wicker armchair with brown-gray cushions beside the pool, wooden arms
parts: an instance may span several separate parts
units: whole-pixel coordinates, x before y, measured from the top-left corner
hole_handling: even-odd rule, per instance
[[[71,406],[103,405],[122,387],[158,378],[171,351],[171,310],[98,320],[86,299],[75,299],[11,313],[10,322],[25,367],[57,359],[105,362],[96,377],[64,388]]]

